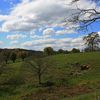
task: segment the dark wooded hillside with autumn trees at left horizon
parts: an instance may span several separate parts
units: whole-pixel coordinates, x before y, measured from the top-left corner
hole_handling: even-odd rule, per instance
[[[34,51],[34,50],[26,50],[26,49],[0,49],[0,61],[5,62],[6,64],[9,61],[12,61],[13,63],[17,60],[20,59],[24,61],[25,58],[27,57],[42,57],[43,52],[41,51]]]

